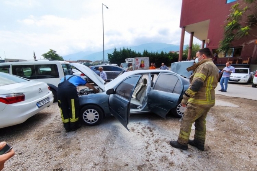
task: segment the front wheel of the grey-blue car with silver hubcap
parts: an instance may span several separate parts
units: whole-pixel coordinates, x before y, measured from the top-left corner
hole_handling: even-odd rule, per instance
[[[102,122],[103,111],[96,105],[86,105],[80,110],[79,120],[81,124],[94,126]]]

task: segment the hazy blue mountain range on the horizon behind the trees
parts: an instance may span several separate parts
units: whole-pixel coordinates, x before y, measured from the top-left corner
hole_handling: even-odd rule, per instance
[[[185,49],[187,45],[184,45],[183,50]],[[144,50],[147,50],[148,52],[158,52],[161,53],[161,51],[169,53],[170,51],[179,51],[179,45],[174,44],[166,44],[166,43],[147,43],[147,44],[141,44],[138,46],[132,46],[132,47],[116,47],[117,50],[128,48],[135,52],[140,52],[141,54],[144,52]],[[105,60],[108,60],[108,53],[113,53],[114,48],[107,49],[104,51],[104,57]],[[93,52],[93,51],[81,51],[78,53],[73,53],[69,55],[62,56],[64,60],[102,60],[103,53],[100,52]]]

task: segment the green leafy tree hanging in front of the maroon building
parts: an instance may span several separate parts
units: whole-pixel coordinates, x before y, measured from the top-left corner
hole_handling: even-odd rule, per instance
[[[231,6],[231,12],[225,21],[224,37],[220,41],[219,52],[227,52],[234,40],[248,36],[253,27],[257,28],[257,0],[241,0]],[[251,34],[254,37],[257,35]]]

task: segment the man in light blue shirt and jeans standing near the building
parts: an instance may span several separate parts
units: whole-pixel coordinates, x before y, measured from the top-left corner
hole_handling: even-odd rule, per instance
[[[226,67],[223,68],[223,70],[221,71],[222,74],[222,77],[220,79],[220,86],[221,86],[221,89],[219,91],[221,92],[227,92],[227,88],[228,88],[228,81],[229,81],[229,78],[230,78],[230,75],[231,73],[235,73],[235,68],[233,66],[230,66],[230,63],[227,62],[226,63]],[[224,85],[225,87],[224,87]]]

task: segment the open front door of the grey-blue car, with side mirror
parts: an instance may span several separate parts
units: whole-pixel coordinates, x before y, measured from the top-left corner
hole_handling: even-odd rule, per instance
[[[130,114],[130,100],[132,93],[141,76],[132,76],[123,80],[116,88],[109,89],[109,109],[112,115],[118,119],[127,129]]]

